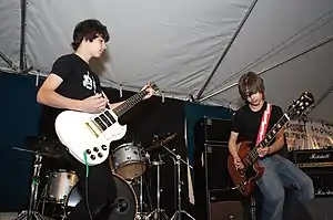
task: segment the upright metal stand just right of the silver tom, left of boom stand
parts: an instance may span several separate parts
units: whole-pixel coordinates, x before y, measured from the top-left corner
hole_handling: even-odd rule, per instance
[[[162,165],[163,161],[162,161],[161,158],[160,158],[159,161],[151,161],[151,164],[152,164],[153,166],[157,166],[157,171],[158,171],[158,177],[157,177],[157,179],[158,179],[158,182],[157,182],[157,185],[158,185],[158,186],[157,186],[157,208],[145,217],[145,220],[149,220],[151,217],[153,217],[154,220],[160,220],[161,217],[162,217],[162,219],[164,219],[164,220],[170,220],[170,218],[169,218],[169,217],[167,216],[167,213],[165,213],[165,210],[164,210],[164,209],[161,209],[161,207],[160,207],[160,200],[161,200],[161,189],[160,189],[160,165]]]

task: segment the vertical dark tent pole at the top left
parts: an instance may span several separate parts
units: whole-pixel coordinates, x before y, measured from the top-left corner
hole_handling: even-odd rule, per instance
[[[27,18],[27,0],[21,0],[21,45],[20,45],[20,69],[21,70],[27,70],[26,18]]]

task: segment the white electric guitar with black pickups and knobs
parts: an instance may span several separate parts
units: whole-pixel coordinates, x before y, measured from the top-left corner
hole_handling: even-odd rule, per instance
[[[154,83],[150,86],[159,88]],[[80,163],[94,166],[109,157],[110,143],[121,139],[127,133],[127,125],[120,125],[118,118],[141,102],[149,92],[140,91],[113,111],[99,114],[64,111],[56,118],[56,132],[60,142]]]

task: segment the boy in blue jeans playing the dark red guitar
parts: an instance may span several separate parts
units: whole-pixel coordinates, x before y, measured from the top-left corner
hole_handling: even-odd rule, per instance
[[[244,166],[238,154],[239,142],[259,143],[263,138],[262,136],[283,116],[283,113],[281,107],[265,101],[263,80],[255,73],[249,72],[242,75],[238,86],[245,105],[234,115],[229,150],[235,168],[242,169]],[[255,181],[263,199],[262,220],[282,220],[284,188],[292,189],[295,192],[293,193],[294,199],[301,203],[314,197],[312,180],[279,154],[283,148],[285,148],[283,129],[270,146],[258,148],[259,163],[264,167],[263,176]]]

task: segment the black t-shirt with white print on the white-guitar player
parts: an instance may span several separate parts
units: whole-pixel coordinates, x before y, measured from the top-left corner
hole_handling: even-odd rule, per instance
[[[59,57],[51,73],[60,76],[63,82],[57,93],[73,99],[84,99],[101,92],[99,77],[91,71],[89,64],[75,54]],[[42,105],[39,134],[47,138],[57,139],[54,122],[64,109]]]

